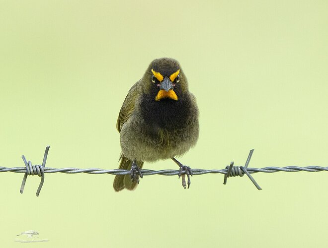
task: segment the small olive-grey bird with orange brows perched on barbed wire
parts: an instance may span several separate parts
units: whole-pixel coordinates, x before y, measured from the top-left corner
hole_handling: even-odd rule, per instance
[[[172,159],[190,186],[192,170],[175,157],[195,146],[199,136],[199,110],[195,96],[189,92],[187,78],[175,59],[152,61],[143,77],[129,90],[118,115],[120,133],[119,169],[130,174],[116,175],[115,191],[133,190],[143,178],[144,162]]]

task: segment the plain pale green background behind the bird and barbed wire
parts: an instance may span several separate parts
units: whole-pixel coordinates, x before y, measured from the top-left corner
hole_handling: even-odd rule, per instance
[[[155,58],[177,59],[200,109],[192,168],[328,166],[328,2],[0,1],[0,166],[118,166],[116,118]],[[145,164],[177,169],[172,161]],[[327,247],[328,173],[247,179],[0,174],[1,247]],[[19,244],[34,229],[48,243]]]

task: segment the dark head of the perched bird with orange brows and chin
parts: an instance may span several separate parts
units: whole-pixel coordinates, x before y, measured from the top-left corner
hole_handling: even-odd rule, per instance
[[[154,100],[170,99],[178,101],[188,92],[187,78],[179,62],[170,58],[161,58],[150,63],[146,70],[142,87],[145,94]]]

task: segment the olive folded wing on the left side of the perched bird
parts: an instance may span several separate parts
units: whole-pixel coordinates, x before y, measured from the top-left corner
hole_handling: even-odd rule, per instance
[[[116,128],[119,132],[121,131],[123,124],[126,123],[127,120],[129,120],[135,109],[136,100],[138,96],[140,96],[140,87],[138,87],[139,82],[140,80],[131,87],[122,104],[122,108],[120,110],[116,123]]]

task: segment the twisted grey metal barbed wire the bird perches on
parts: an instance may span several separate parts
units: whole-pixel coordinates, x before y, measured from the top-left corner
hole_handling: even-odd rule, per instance
[[[112,169],[112,170],[105,170],[105,169],[99,169],[99,168],[87,168],[87,169],[80,169],[80,168],[51,168],[51,167],[45,167],[47,156],[49,152],[50,146],[46,147],[46,150],[44,152],[43,156],[43,162],[42,165],[32,165],[31,161],[26,161],[26,158],[24,155],[22,155],[22,159],[24,161],[25,167],[0,167],[0,173],[1,172],[14,172],[14,173],[25,173],[23,177],[22,184],[20,186],[20,192],[23,193],[25,183],[27,176],[33,176],[38,175],[41,177],[41,182],[39,184],[39,187],[36,191],[36,196],[39,196],[41,188],[44,184],[44,174],[46,173],[66,173],[66,174],[77,174],[77,173],[87,173],[87,174],[111,174],[111,175],[130,175],[130,171],[128,170],[122,170],[122,169]],[[306,166],[306,167],[299,167],[299,166],[286,166],[286,167],[264,167],[264,168],[248,168],[251,156],[253,154],[254,149],[250,150],[245,166],[235,166],[234,162],[230,163],[230,166],[226,166],[225,169],[222,170],[206,170],[206,169],[191,169],[192,175],[204,175],[204,174],[224,174],[224,182],[223,184],[227,184],[227,179],[229,177],[243,177],[245,174],[250,179],[250,181],[254,184],[254,186],[261,190],[262,188],[256,183],[254,178],[250,175],[253,173],[263,172],[263,173],[274,173],[274,172],[319,172],[319,171],[328,171],[328,167],[321,167],[321,166]],[[154,171],[154,170],[147,170],[142,169],[141,173],[143,176],[151,176],[151,175],[164,175],[164,176],[175,176],[182,173],[182,185],[185,187],[185,171],[179,171],[179,170],[160,170],[160,171]]]

